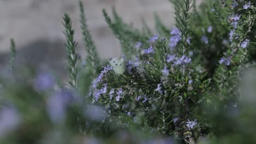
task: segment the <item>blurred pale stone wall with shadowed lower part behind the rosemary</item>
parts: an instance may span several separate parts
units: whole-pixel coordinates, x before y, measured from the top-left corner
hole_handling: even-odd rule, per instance
[[[198,0],[200,1],[200,0]],[[173,26],[174,11],[167,0],[83,0],[88,26],[102,58],[120,56],[119,41],[114,37],[102,16],[114,5],[124,21],[142,26],[143,17],[149,27],[154,27],[154,11],[166,26]],[[71,15],[78,41],[78,52],[83,48],[79,23],[78,0],[0,0],[0,64],[8,59],[9,41],[14,38],[20,61],[37,68],[65,71],[65,36],[62,15]]]

